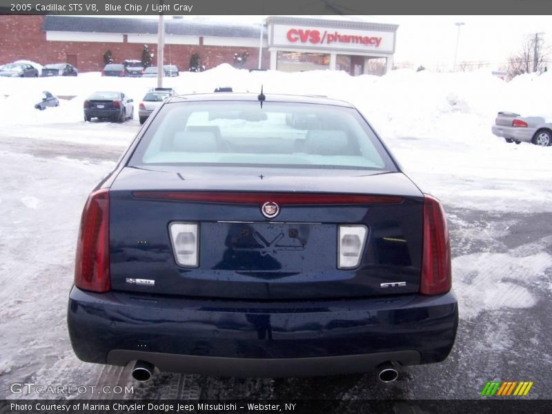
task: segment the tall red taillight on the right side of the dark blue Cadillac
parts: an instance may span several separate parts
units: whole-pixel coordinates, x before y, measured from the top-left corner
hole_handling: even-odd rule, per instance
[[[451,290],[451,244],[439,200],[424,194],[424,246],[420,293],[439,295]]]

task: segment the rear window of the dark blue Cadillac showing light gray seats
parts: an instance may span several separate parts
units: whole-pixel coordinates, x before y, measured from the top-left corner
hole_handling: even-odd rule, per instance
[[[257,101],[168,103],[129,164],[395,170],[354,108]]]

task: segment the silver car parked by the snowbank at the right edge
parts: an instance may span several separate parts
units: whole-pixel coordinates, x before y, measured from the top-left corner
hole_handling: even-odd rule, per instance
[[[506,142],[521,144],[523,141],[540,146],[552,144],[552,124],[542,117],[522,117],[514,112],[498,112],[491,130]]]

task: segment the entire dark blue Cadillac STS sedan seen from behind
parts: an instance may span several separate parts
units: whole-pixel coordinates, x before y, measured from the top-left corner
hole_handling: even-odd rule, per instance
[[[72,347],[137,379],[393,380],[444,360],[457,322],[440,201],[342,101],[171,98],[83,210]]]

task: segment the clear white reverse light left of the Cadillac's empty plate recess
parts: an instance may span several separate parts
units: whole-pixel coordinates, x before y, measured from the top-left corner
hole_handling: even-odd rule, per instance
[[[197,223],[174,222],[169,226],[170,241],[179,266],[199,265],[199,235]]]

